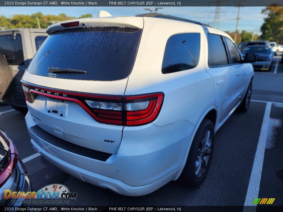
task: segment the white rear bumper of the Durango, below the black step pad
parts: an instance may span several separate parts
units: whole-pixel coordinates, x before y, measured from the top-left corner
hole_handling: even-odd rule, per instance
[[[127,196],[146,195],[176,180],[195,131],[195,126],[187,121],[164,127],[153,124],[124,127],[118,152],[101,161],[40,138],[30,130],[35,122],[29,112],[26,123],[34,148],[48,161],[85,182]]]

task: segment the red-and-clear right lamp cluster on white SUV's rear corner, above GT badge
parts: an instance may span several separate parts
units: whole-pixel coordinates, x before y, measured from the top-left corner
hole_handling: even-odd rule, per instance
[[[125,96],[121,100],[85,100],[97,121],[114,125],[144,125],[152,122],[161,109],[163,93]]]

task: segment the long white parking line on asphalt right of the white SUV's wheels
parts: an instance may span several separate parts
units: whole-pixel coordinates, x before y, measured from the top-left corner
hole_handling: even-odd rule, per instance
[[[261,125],[261,130],[259,134],[259,142],[256,148],[254,164],[251,170],[251,176],[249,180],[249,186],[248,186],[244,206],[253,206],[254,199],[258,198],[258,195],[259,195],[259,185],[260,185],[260,180],[261,180],[262,165],[263,165],[263,160],[264,160],[264,151],[265,151],[265,145],[266,145],[266,140],[267,140],[267,133],[269,129],[271,105],[272,105],[271,102],[267,102],[266,104],[264,117],[263,117],[263,121]],[[250,211],[251,208],[244,207],[243,211],[246,211],[248,209]],[[254,207],[253,209],[255,211],[256,207]]]

